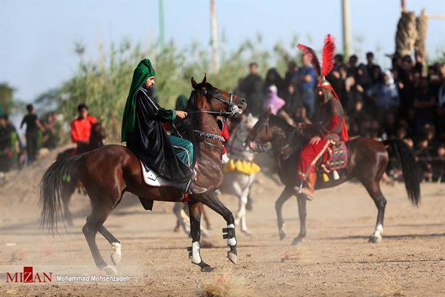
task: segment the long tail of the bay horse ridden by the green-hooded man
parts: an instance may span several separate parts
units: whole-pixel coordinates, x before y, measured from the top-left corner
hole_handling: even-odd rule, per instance
[[[40,228],[47,228],[51,233],[58,232],[58,219],[62,217],[64,186],[75,176],[81,155],[55,161],[40,180]]]

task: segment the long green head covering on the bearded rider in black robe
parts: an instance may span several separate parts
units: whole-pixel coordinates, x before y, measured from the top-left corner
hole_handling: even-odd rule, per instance
[[[131,80],[130,91],[127,97],[127,103],[125,104],[124,117],[122,121],[122,141],[127,141],[127,133],[134,131],[134,121],[136,119],[136,93],[141,86],[147,82],[147,79],[151,76],[155,76],[156,72],[151,66],[149,59],[144,59],[139,62],[138,67],[134,69],[133,80]]]

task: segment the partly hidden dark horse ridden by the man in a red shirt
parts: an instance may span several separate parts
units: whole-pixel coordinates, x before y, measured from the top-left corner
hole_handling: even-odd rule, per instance
[[[55,161],[64,160],[75,154],[83,154],[84,152],[90,152],[91,150],[96,150],[99,147],[103,147],[105,136],[106,134],[105,130],[103,129],[102,123],[93,123],[91,125],[90,141],[88,143],[79,145],[79,147],[77,147],[77,150],[76,147],[71,147],[64,150],[63,152],[60,152],[57,158],[55,158]],[[68,205],[71,196],[78,186],[79,180],[75,179],[74,176],[65,177],[64,195],[62,197],[62,201],[64,206],[64,217],[68,226],[73,226],[73,215],[71,214]]]

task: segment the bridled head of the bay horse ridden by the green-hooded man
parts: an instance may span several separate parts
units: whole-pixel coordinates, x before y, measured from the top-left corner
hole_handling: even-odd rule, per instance
[[[195,92],[194,105],[199,110],[223,117],[239,117],[247,107],[246,99],[209,84],[207,75],[204,75],[201,83],[197,83],[194,78],[191,81]]]

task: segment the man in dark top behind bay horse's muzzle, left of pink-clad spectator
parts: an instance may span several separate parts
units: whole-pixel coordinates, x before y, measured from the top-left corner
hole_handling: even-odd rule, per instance
[[[247,109],[245,112],[251,112],[252,115],[258,117],[262,114],[264,106],[263,79],[258,75],[257,63],[252,62],[249,65],[249,71],[249,75],[242,81],[240,91],[246,96]]]

